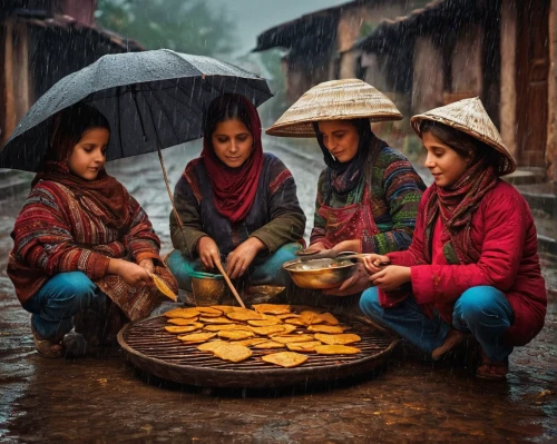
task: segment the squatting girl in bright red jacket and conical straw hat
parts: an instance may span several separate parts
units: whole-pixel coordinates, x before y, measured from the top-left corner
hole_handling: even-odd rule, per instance
[[[512,347],[539,333],[547,305],[528,204],[499,179],[515,160],[478,98],[411,124],[434,184],[410,248],[364,260],[374,287],[360,306],[434,359],[472,334],[481,347],[476,375],[504,379]]]

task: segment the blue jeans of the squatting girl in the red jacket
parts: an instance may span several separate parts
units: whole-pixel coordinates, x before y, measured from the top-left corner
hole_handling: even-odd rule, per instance
[[[405,298],[397,307],[381,307],[377,287],[363,292],[360,308],[372,320],[397,332],[428,354],[444,342],[451,329],[437,310],[432,319],[423,315],[413,297]],[[514,313],[507,297],[490,286],[467,289],[457,299],[452,312],[452,327],[471,333],[492,361],[502,361],[512,353],[512,346],[502,341],[512,320]]]

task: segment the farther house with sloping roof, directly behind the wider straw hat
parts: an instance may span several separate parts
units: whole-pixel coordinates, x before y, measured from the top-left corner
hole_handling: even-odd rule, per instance
[[[302,16],[257,37],[254,51],[283,48],[287,99],[292,103],[322,81],[359,77],[353,45],[385,17],[397,17],[424,3],[419,0],[355,0]]]

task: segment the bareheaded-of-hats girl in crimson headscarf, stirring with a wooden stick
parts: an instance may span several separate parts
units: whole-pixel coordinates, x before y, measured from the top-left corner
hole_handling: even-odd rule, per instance
[[[213,272],[222,260],[231,278],[248,285],[287,284],[282,264],[301,248],[305,216],[292,174],[263,152],[250,100],[224,95],[211,103],[202,155],[186,166],[174,200],[183,227],[170,213],[167,264],[180,288],[192,292],[192,273]]]

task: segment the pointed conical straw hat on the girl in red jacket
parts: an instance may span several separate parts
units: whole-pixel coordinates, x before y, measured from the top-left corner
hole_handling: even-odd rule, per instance
[[[478,97],[459,100],[444,107],[434,108],[422,115],[413,116],[410,119],[410,124],[420,137],[420,125],[423,120],[444,124],[496,149],[500,154],[496,171],[498,176],[508,175],[517,168],[515,159],[502,144],[501,135],[489,118],[486,108],[483,108]]]

